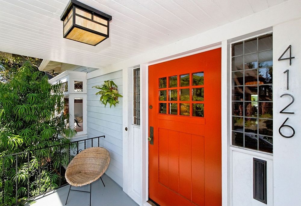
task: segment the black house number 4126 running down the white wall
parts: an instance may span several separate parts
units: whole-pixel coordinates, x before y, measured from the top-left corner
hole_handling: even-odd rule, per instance
[[[287,52],[287,50],[289,50],[290,52],[290,57],[289,58],[282,58],[283,55]],[[282,60],[290,60],[290,65],[292,65],[292,59],[294,59],[295,57],[292,57],[292,45],[289,45],[287,47],[287,49],[282,53],[282,55],[279,57],[278,61],[282,61]],[[286,73],[286,89],[289,90],[289,70],[285,70],[283,73]],[[295,98],[293,95],[291,94],[283,94],[281,95],[280,97],[283,97],[283,96],[290,96],[292,98],[292,101],[290,102],[290,104],[288,104],[285,108],[283,108],[280,113],[285,113],[285,114],[295,114],[295,112],[288,112],[288,111],[284,111],[286,108],[288,108],[291,104],[293,104],[293,102],[295,101]],[[290,125],[287,125],[285,124],[287,122],[289,118],[287,117],[286,120],[281,124],[281,126],[279,127],[279,134],[285,138],[290,138],[290,137],[293,137],[295,135],[295,130],[292,126]],[[293,130],[293,133],[290,135],[290,136],[286,136],[284,134],[281,133],[281,128],[282,127],[289,127],[291,130]]]

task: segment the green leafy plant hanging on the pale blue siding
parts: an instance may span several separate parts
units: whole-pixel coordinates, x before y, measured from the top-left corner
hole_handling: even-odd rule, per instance
[[[100,96],[101,104],[104,104],[106,107],[107,103],[110,104],[110,108],[112,105],[116,107],[116,104],[119,103],[118,97],[122,97],[122,95],[118,94],[117,85],[112,80],[104,81],[104,84],[101,86],[92,86],[92,88],[99,89],[99,92],[96,92],[96,95]]]

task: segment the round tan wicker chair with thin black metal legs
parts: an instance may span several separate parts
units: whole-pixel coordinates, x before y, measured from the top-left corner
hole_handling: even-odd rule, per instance
[[[98,178],[101,179],[101,175],[104,174],[110,164],[110,159],[109,151],[103,147],[85,149],[73,158],[65,173],[65,178],[70,184],[66,204],[70,190],[86,192],[71,189],[71,186],[78,187],[90,184],[90,192],[88,193],[90,193],[91,206],[91,183],[96,181]],[[104,181],[102,181],[102,183],[104,184]]]

